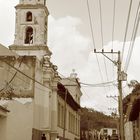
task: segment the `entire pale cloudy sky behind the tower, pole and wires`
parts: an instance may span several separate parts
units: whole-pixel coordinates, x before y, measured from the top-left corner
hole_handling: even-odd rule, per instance
[[[9,46],[14,41],[15,31],[15,9],[19,0],[0,1],[0,43]],[[115,24],[114,24],[114,49],[122,50],[122,42],[126,26],[130,0],[116,0]],[[105,50],[112,48],[112,17],[113,0],[101,0],[102,4],[102,31]],[[129,23],[129,36],[125,46],[125,55],[128,53],[130,36],[136,14],[138,0],[133,0],[132,11]],[[98,55],[99,65],[103,78],[99,72],[96,55],[93,53],[91,29],[87,9],[87,0],[47,0],[47,7],[50,12],[48,24],[48,47],[52,51],[52,62],[58,66],[58,71],[68,76],[72,69],[76,70],[80,82],[98,84],[116,80],[115,70],[112,62],[106,60],[107,76],[102,55]],[[101,48],[101,26],[99,13],[99,0],[89,0],[91,11],[93,34],[96,48]],[[139,34],[139,30],[138,30]],[[137,35],[128,69],[128,81],[136,79],[140,81],[139,63],[140,38]],[[110,55],[109,57],[112,58]],[[115,59],[115,57],[114,57]],[[123,67],[125,61],[122,62]],[[124,83],[125,87],[126,83]],[[109,112],[108,108],[117,107],[117,102],[107,95],[118,95],[116,85],[111,87],[83,87],[81,105],[92,107],[102,112]],[[124,96],[128,90],[124,88]]]

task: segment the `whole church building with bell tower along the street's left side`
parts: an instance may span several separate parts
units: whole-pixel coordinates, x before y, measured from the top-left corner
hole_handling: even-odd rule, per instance
[[[0,55],[0,139],[80,139],[80,84],[50,62],[46,0],[20,0],[14,43]],[[6,101],[5,101],[6,99]]]

